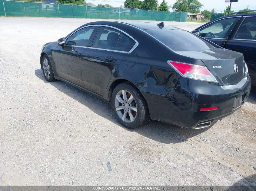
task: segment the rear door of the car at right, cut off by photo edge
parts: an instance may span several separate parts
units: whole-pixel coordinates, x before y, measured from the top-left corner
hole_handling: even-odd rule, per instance
[[[256,16],[244,17],[224,48],[243,53],[252,80],[256,80]]]

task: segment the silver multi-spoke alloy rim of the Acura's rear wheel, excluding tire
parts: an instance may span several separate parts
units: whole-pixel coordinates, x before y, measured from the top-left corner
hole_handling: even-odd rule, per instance
[[[118,116],[126,123],[131,123],[137,116],[137,104],[133,95],[126,91],[120,90],[115,97],[115,109]]]

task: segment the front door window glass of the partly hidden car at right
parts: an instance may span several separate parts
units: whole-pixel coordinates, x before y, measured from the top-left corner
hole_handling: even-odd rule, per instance
[[[225,38],[230,27],[237,18],[226,18],[216,21],[200,29],[199,36],[204,38]]]

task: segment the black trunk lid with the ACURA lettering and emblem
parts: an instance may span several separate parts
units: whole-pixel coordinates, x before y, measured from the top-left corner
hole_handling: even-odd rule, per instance
[[[176,52],[183,56],[201,59],[220,85],[238,84],[244,78],[245,64],[241,53],[220,48]]]

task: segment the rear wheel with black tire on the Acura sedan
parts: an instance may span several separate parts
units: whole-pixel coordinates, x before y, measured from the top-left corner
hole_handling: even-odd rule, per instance
[[[144,97],[129,82],[118,84],[115,87],[111,97],[111,106],[119,123],[128,129],[135,129],[150,119]]]

